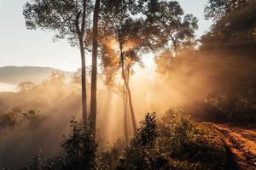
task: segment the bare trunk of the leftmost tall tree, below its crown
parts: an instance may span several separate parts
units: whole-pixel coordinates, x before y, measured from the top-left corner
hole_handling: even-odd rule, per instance
[[[84,124],[87,123],[87,101],[86,101],[86,69],[85,69],[85,53],[84,53],[84,42],[83,37],[79,37],[79,46],[81,53],[81,63],[82,63],[82,116]]]

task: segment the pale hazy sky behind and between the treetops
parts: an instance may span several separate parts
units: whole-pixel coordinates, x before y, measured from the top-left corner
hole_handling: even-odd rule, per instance
[[[25,2],[26,0],[0,0],[0,66],[50,66],[66,71],[79,68],[78,48],[70,47],[66,40],[53,42],[54,34],[51,31],[26,30],[22,15]],[[178,2],[181,3],[185,14],[194,14],[199,19],[199,30],[196,34],[200,37],[212,24],[203,17],[207,0]]]

